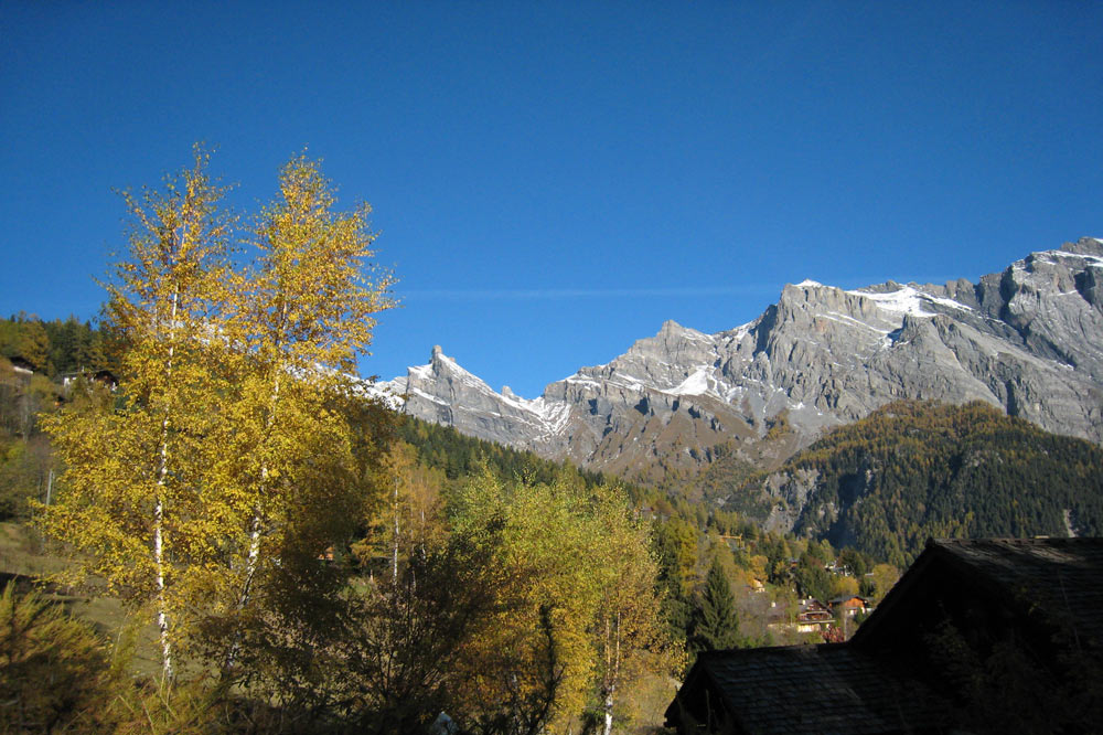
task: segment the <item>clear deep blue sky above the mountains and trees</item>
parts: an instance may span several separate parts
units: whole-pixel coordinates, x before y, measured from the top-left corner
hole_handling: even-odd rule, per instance
[[[350,9],[355,7],[355,9]],[[783,284],[1103,236],[1103,3],[0,3],[0,313],[94,317],[113,188],[324,160],[432,344],[528,397]]]

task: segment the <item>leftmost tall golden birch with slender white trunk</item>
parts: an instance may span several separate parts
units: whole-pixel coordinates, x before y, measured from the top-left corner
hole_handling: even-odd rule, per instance
[[[234,222],[225,189],[195,150],[160,190],[124,193],[129,248],[107,284],[107,317],[125,344],[118,396],[75,402],[45,422],[66,471],[42,529],[77,552],[77,573],[152,605],[161,663],[186,608],[189,571],[207,560],[201,505],[203,437],[219,419],[214,370]]]

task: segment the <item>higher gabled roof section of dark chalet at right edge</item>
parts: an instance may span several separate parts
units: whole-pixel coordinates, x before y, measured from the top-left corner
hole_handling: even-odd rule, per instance
[[[1024,612],[1072,622],[1080,636],[1103,642],[1103,539],[931,539],[877,611],[855,633],[876,635],[910,587],[945,564]]]

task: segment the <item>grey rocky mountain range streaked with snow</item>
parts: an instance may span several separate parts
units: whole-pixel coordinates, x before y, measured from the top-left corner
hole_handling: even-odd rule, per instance
[[[981,400],[1103,443],[1103,242],[1034,253],[978,284],[786,285],[750,323],[705,334],[668,321],[532,401],[439,348],[390,387],[421,418],[613,471],[707,461],[724,443],[770,466],[897,398]]]

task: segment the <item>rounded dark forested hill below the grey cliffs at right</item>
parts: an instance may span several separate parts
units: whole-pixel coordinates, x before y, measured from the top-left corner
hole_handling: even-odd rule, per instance
[[[1100,535],[1103,449],[982,403],[899,402],[840,427],[729,503],[771,528],[909,563],[929,536]]]

